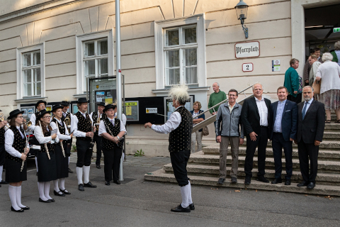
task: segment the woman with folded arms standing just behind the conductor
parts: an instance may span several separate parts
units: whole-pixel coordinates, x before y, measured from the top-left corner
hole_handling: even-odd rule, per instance
[[[195,101],[193,103],[193,111],[190,111],[191,114],[193,115],[193,126],[196,126],[198,123],[204,121],[205,119],[204,114],[202,114],[198,118],[196,117],[198,116],[198,114],[203,112],[200,110],[201,108],[202,108],[202,105],[200,104],[199,101]],[[191,134],[191,153],[195,153],[196,151],[202,150],[202,136],[203,136],[202,131],[203,131],[203,128]],[[197,150],[195,149],[196,141],[197,141],[197,146],[198,146]]]

